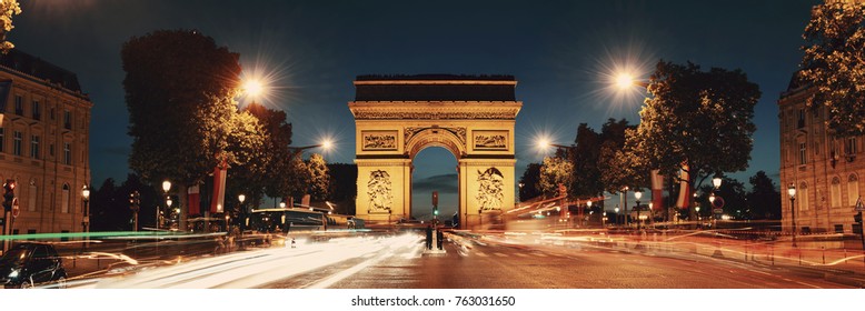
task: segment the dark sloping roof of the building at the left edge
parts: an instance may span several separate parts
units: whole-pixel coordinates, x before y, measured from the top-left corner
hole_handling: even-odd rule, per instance
[[[51,83],[59,83],[61,87],[72,92],[81,92],[81,86],[78,83],[78,76],[76,76],[74,72],[28,54],[19,49],[12,49],[6,54],[0,54],[0,66],[12,71],[48,80]]]

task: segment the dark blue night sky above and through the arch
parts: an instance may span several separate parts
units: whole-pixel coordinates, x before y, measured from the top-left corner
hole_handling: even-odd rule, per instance
[[[747,177],[778,179],[776,101],[802,58],[802,31],[822,1],[29,1],[8,37],[24,52],[78,74],[93,102],[92,183],[126,179],[131,139],[120,47],[157,29],[197,29],[269,76],[265,103],[285,110],[294,146],[332,138],[329,162],[354,161],[347,102],[359,74],[513,74],[518,80],[517,179],[544,153],[540,136],[570,144],[579,123],[638,120],[638,91],[609,90],[614,68],[647,78],[659,60],[742,69],[759,84]],[[551,153],[553,150],[548,150]],[[429,148],[416,159],[416,204],[438,190],[455,211],[456,160]],[[230,181],[229,181],[230,182]],[[633,199],[632,199],[633,200]],[[608,204],[609,207],[610,204]],[[615,205],[615,203],[613,204]]]

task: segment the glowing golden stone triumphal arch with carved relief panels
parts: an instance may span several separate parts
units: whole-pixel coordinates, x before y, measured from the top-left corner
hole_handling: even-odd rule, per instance
[[[357,141],[357,217],[409,219],[411,162],[428,147],[457,159],[460,228],[477,227],[483,213],[514,208],[514,124],[523,107],[516,86],[511,76],[357,77],[348,103]]]

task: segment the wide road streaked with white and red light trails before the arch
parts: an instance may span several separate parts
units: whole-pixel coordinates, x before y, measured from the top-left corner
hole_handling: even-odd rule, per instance
[[[73,288],[266,289],[843,289],[851,284],[789,267],[579,239],[448,234],[444,255],[424,254],[407,232],[301,240],[188,262],[147,267]],[[566,242],[560,242],[566,241]]]

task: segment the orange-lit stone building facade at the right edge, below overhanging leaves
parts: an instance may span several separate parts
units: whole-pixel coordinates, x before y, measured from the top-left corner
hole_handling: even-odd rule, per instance
[[[852,233],[865,184],[865,141],[832,136],[828,109],[805,107],[811,91],[791,82],[778,100],[782,224],[784,231],[792,230],[795,209],[797,232]],[[787,194],[791,184],[796,185],[795,201]]]

